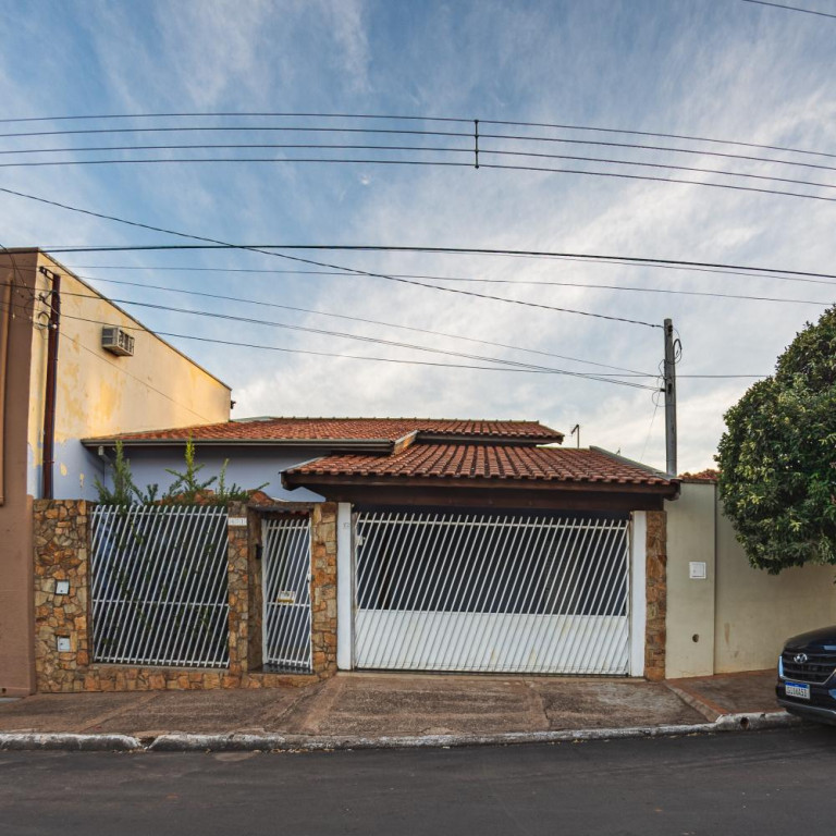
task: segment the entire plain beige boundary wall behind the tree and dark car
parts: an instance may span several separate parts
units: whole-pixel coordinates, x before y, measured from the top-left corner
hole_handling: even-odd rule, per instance
[[[683,484],[666,508],[668,678],[770,668],[787,638],[836,624],[836,566],[752,568],[711,482]],[[690,561],[706,580],[689,580]]]

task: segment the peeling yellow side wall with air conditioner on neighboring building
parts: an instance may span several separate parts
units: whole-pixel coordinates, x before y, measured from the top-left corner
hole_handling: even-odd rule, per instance
[[[78,439],[229,420],[229,386],[143,330],[48,256],[39,254],[40,265],[61,274],[56,496],[94,496],[93,476],[100,463]],[[36,281],[41,292],[49,288],[46,276],[38,273]],[[47,310],[45,303],[37,305],[32,341],[28,487],[34,495],[39,495],[47,367],[47,329],[37,324],[47,321]],[[130,329],[136,341],[133,357],[116,357],[101,348],[102,322]]]

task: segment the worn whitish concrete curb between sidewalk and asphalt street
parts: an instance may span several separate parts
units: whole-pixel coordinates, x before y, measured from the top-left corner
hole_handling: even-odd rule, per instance
[[[637,737],[760,732],[801,725],[785,711],[724,714],[713,723],[690,725],[587,728],[563,732],[515,732],[500,735],[425,735],[383,737],[314,737],[308,735],[159,735],[150,741],[130,735],[0,734],[0,751],[63,750],[77,752],[288,752],[349,749],[450,749],[466,746],[519,746]]]

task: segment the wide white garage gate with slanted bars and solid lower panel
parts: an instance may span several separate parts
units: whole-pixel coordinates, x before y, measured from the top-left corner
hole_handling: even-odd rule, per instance
[[[626,675],[629,519],[364,512],[355,665]]]

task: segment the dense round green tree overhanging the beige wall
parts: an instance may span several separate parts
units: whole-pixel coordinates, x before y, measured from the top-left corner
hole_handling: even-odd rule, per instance
[[[836,564],[836,307],[725,419],[720,495],[751,564]]]

